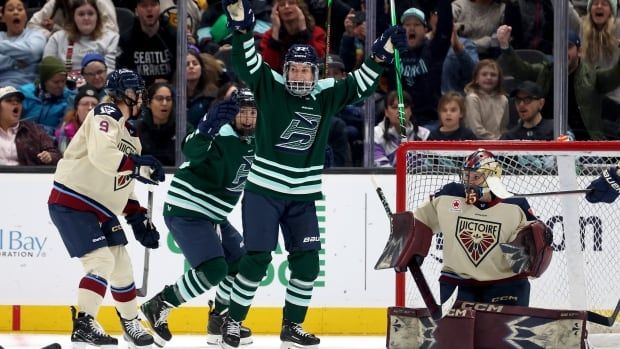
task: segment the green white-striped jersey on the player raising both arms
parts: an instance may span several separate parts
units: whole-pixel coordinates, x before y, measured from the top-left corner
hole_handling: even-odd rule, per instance
[[[251,34],[235,33],[232,62],[256,98],[256,156],[246,190],[287,200],[321,198],[330,118],[370,96],[383,67],[367,59],[346,79],[322,79],[307,96],[290,94],[281,74],[263,62]]]

